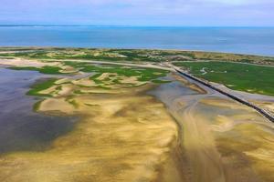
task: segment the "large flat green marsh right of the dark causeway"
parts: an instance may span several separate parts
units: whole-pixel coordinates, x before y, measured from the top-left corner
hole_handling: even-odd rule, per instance
[[[229,88],[274,96],[274,68],[227,62],[176,63],[190,73]]]

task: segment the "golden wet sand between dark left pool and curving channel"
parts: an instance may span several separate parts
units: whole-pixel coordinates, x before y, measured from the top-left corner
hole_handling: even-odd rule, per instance
[[[70,86],[67,93],[45,99],[39,112],[73,114],[82,119],[45,151],[0,157],[1,181],[160,180],[178,132],[163,104],[145,94],[152,88],[146,85],[116,94],[81,94],[68,101],[71,89],[78,89]],[[72,100],[73,105],[69,104]],[[173,169],[182,181],[180,171]]]

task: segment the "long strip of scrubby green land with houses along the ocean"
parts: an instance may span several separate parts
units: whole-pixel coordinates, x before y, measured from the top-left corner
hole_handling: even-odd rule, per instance
[[[83,59],[120,62],[162,62],[162,61],[196,61],[214,60],[227,62],[244,62],[259,65],[274,65],[274,57],[248,56],[226,53],[149,50],[149,49],[92,49],[92,48],[3,48],[2,51],[16,52],[1,53],[4,57],[22,57],[26,59]],[[21,51],[21,52],[20,52]]]

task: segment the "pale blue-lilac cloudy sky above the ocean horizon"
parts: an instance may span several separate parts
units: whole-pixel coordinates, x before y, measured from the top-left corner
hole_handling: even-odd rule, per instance
[[[274,26],[274,0],[0,0],[0,24]]]

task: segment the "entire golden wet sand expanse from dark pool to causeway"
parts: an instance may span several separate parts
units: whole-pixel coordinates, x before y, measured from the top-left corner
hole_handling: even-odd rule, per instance
[[[46,150],[2,155],[0,181],[274,181],[273,124],[180,76],[168,79],[82,94],[59,80],[38,112],[82,119]]]

